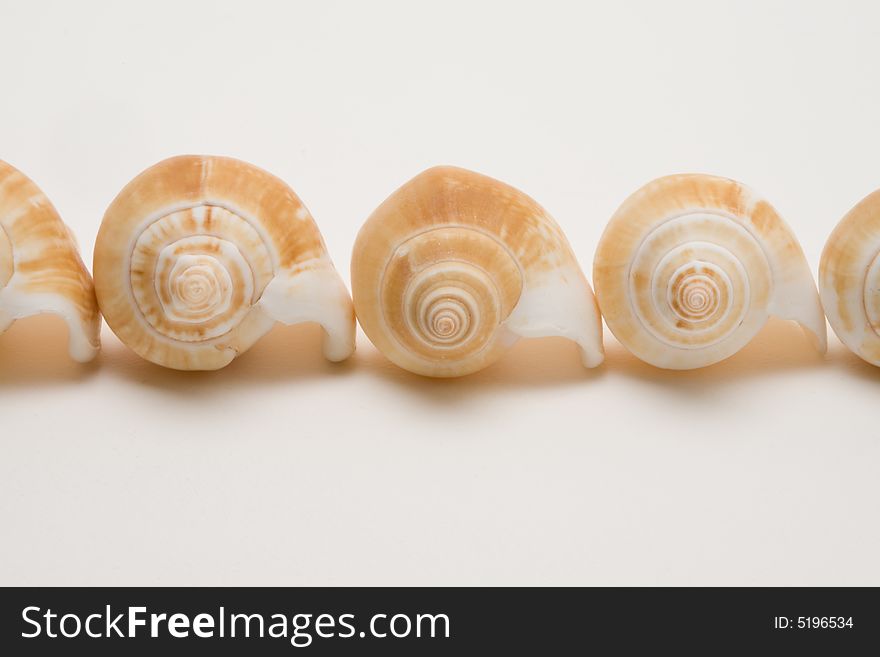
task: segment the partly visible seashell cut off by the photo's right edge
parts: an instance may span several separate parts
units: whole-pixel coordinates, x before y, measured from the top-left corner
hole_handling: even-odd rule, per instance
[[[819,294],[841,342],[880,366],[880,190],[832,231],[819,263]]]

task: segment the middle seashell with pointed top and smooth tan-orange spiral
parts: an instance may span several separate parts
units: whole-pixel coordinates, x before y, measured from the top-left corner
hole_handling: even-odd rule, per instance
[[[593,291],[556,222],[522,192],[429,169],[367,219],[351,262],[358,320],[396,365],[461,376],[520,337],[563,336],[602,362]]]

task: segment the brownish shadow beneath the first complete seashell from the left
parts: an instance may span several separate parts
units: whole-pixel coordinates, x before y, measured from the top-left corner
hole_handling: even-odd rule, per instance
[[[99,359],[111,376],[146,385],[172,395],[199,394],[239,386],[278,382],[307,382],[315,378],[344,376],[352,370],[351,359],[327,361],[321,351],[323,330],[317,324],[277,324],[246,353],[214,371],[172,370],[142,359],[105,331]]]

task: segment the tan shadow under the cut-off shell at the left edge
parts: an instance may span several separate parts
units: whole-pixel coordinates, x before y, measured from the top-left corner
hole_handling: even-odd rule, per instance
[[[0,335],[0,388],[45,387],[82,381],[98,361],[77,363],[67,351],[67,324],[57,315],[15,322]]]

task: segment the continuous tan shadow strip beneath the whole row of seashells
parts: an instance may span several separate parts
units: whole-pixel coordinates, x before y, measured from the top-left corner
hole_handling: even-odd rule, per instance
[[[586,369],[577,347],[563,338],[521,340],[497,363],[458,379],[431,379],[400,369],[366,339],[358,336],[358,351],[343,363],[330,363],[321,353],[323,332],[316,324],[277,325],[246,354],[213,372],[179,372],[141,359],[109,331],[92,363],[71,360],[67,353],[67,326],[54,315],[20,320],[0,335],[0,389],[43,387],[87,380],[97,373],[169,394],[204,394],[212,390],[275,384],[295,384],[318,378],[363,374],[375,376],[438,403],[455,402],[485,391],[584,386],[589,389],[606,376],[637,379],[647,385],[687,394],[711,394],[719,385],[789,371],[828,366],[863,380],[880,383],[880,368],[865,363],[832,338],[830,353],[815,352],[800,328],[772,319],[739,353],[698,370],[661,370],[627,352],[606,332],[606,361]]]

